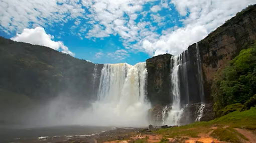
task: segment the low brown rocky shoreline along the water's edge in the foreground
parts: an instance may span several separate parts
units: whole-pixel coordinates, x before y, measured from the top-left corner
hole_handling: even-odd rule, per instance
[[[101,131],[99,133],[90,134],[90,135],[66,135],[66,136],[42,136],[37,139],[37,141],[32,142],[56,142],[56,143],[101,143],[101,142],[108,142],[114,140],[131,140],[136,136],[141,135],[153,135],[154,131],[158,130],[159,128],[171,128],[175,126],[153,126],[149,125],[149,127],[116,127],[112,130]],[[136,139],[136,138],[135,138]]]

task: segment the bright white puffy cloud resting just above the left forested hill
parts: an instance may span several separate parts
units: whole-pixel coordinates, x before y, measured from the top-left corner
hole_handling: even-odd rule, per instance
[[[16,36],[11,39],[31,44],[44,45],[72,56],[75,55],[67,46],[64,45],[62,41],[54,41],[53,38],[54,36],[47,34],[43,27],[36,27],[32,29],[25,28],[21,34],[17,33]]]

